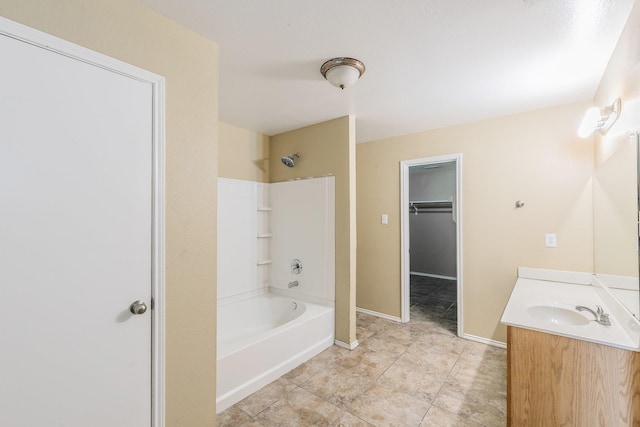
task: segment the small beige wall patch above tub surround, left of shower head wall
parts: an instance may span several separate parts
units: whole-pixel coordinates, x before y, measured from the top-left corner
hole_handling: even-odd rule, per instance
[[[269,182],[269,137],[220,122],[218,176]]]

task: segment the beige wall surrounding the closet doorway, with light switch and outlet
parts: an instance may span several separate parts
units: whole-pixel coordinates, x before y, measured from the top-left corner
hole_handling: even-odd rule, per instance
[[[465,334],[506,341],[500,317],[518,266],[592,271],[593,143],[576,134],[588,106],[358,144],[357,306],[401,315],[401,160],[462,153]],[[557,248],[545,248],[545,233]]]

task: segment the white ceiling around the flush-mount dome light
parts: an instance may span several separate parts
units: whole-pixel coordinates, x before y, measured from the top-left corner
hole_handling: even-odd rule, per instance
[[[591,99],[634,0],[142,0],[220,47],[220,120],[358,142]],[[358,58],[341,91],[320,66]]]

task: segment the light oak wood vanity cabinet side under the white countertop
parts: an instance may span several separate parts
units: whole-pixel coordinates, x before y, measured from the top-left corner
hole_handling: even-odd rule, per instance
[[[640,353],[507,327],[507,425],[640,426]]]

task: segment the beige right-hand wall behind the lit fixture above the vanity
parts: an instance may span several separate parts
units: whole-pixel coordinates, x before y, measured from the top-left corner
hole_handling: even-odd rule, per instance
[[[640,1],[635,2],[594,104],[622,100],[618,122],[596,133],[594,264],[596,273],[638,276],[637,162],[629,132],[640,130]]]

